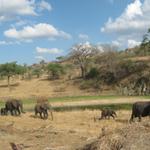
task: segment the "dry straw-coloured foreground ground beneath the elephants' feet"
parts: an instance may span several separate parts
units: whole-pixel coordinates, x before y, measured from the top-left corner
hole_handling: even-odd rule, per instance
[[[0,116],[0,150],[11,150],[10,142],[25,150],[75,150],[97,138],[102,129],[115,131],[128,124],[129,111],[118,111],[116,120],[94,122],[99,111],[54,112],[54,120],[35,118],[32,113],[20,117]]]

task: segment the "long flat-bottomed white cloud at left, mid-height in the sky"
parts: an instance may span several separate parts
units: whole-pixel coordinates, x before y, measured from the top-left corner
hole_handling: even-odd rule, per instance
[[[34,26],[25,26],[22,30],[16,28],[8,29],[4,35],[18,40],[32,40],[35,38],[65,38],[70,39],[71,35],[64,31],[57,30],[54,26],[46,23],[39,23]]]

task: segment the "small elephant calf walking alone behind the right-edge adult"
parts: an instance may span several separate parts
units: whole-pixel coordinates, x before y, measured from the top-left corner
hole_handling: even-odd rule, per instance
[[[115,119],[115,117],[117,117],[116,112],[111,109],[102,109],[101,118],[99,118],[99,119],[106,119],[106,118],[110,119],[110,117]]]

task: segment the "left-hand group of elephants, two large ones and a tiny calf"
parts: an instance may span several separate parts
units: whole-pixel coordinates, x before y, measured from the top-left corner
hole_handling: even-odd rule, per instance
[[[41,119],[48,118],[48,110],[51,110],[51,105],[48,102],[37,103],[34,107],[35,116],[40,115]],[[12,116],[20,115],[25,113],[23,110],[23,103],[21,100],[11,99],[5,102],[5,106],[0,109],[1,115],[8,115],[10,113]],[[51,117],[53,120],[53,113],[51,111]]]

